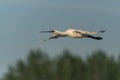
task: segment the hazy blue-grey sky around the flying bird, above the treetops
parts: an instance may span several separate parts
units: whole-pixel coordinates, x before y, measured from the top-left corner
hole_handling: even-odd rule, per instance
[[[68,28],[90,31],[104,39],[60,38],[43,42],[50,34],[42,30]],[[120,53],[120,0],[0,0],[0,76],[8,65],[24,59],[31,49],[41,49],[51,57],[64,48],[85,57],[96,49],[108,55]]]

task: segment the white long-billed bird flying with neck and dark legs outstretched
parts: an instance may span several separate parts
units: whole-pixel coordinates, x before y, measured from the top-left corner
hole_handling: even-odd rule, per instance
[[[98,32],[91,32],[91,31],[86,31],[86,30],[75,30],[75,29],[67,29],[64,32],[61,32],[59,30],[51,30],[51,31],[40,31],[40,33],[52,33],[52,36],[49,37],[49,39],[57,39],[59,37],[71,37],[71,38],[92,38],[95,40],[102,40],[102,37],[95,37],[93,34],[97,33],[104,33],[105,30],[98,31]],[[46,40],[44,40],[46,41]]]

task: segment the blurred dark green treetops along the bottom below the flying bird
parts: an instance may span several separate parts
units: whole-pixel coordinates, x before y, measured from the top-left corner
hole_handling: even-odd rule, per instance
[[[25,61],[9,66],[2,80],[120,80],[120,57],[115,60],[98,50],[83,60],[64,50],[50,59],[41,50],[31,50]]]

